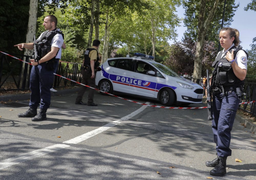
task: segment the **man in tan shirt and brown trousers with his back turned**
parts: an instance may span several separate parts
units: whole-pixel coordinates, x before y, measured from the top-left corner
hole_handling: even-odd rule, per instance
[[[92,47],[87,48],[85,53],[84,53],[84,63],[83,63],[83,68],[82,68],[82,75],[83,75],[83,81],[82,84],[88,85],[90,87],[96,87],[95,85],[95,73],[96,73],[96,68],[99,66],[99,54],[98,54],[98,49],[100,46],[100,41],[95,39],[92,42]],[[97,104],[93,103],[93,96],[94,96],[94,89],[89,90],[88,94],[88,102],[83,103],[82,98],[84,91],[87,89],[86,86],[82,86],[77,94],[76,98],[76,104],[80,105],[88,105],[88,106],[97,106]]]

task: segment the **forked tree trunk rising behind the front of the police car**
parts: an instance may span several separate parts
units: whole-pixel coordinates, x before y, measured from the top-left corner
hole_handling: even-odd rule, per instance
[[[223,2],[224,0],[221,0],[220,4]],[[197,37],[195,64],[194,64],[194,72],[193,72],[194,82],[196,82],[197,79],[201,79],[202,57],[204,53],[205,36],[209,28],[209,25],[212,21],[212,18],[214,17],[218,4],[219,4],[219,0],[215,0],[214,6],[212,7],[208,17],[205,20],[206,0],[201,0],[200,11],[198,16],[198,37]]]

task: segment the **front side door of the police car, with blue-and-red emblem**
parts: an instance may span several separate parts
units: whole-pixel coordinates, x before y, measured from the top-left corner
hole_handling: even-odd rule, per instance
[[[149,74],[149,71],[156,72],[155,68],[144,61],[136,61],[134,73],[130,81],[130,94],[155,97],[157,77]]]

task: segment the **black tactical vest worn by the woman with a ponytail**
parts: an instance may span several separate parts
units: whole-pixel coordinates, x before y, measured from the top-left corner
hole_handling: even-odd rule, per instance
[[[229,52],[234,51],[234,59],[239,50],[242,50],[242,47],[239,46],[237,49],[235,47],[230,48]],[[245,51],[246,52],[246,51]],[[247,54],[247,52],[246,52]],[[223,58],[221,58],[223,56]],[[247,54],[248,57],[248,54]],[[232,69],[231,64],[225,58],[225,55],[220,52],[216,60],[212,63],[212,67],[215,67],[212,74],[212,87],[239,87],[244,84],[244,81],[241,81],[235,74]]]

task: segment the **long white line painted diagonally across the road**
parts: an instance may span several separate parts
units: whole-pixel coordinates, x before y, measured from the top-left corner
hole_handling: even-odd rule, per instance
[[[146,102],[146,104],[148,104],[148,102]],[[122,117],[119,120],[110,122],[110,123],[108,123],[108,124],[98,128],[98,129],[92,130],[90,132],[82,134],[81,136],[78,136],[76,138],[70,139],[68,141],[64,141],[63,143],[77,144],[79,142],[82,142],[82,141],[84,141],[84,140],[86,140],[88,138],[91,138],[91,137],[93,137],[93,136],[95,136],[95,135],[97,135],[97,134],[99,134],[99,133],[101,133],[103,131],[106,131],[106,130],[114,127],[115,125],[121,123],[124,120],[128,120],[128,119],[132,118],[133,116],[135,116],[135,115],[139,114],[140,112],[142,112],[146,107],[147,106],[142,106],[139,109],[137,109],[136,111],[134,111],[133,113],[131,113],[131,114],[125,116],[125,117]],[[67,145],[67,144],[55,144],[55,145],[48,146],[48,147],[43,148],[43,149],[38,149],[38,150],[29,152],[29,153],[25,153],[25,154],[13,157],[13,158],[9,158],[9,159],[0,161],[0,169],[4,169],[4,168],[10,167],[12,165],[15,165],[15,164],[18,164],[18,163],[21,163],[21,162],[25,162],[27,160],[31,160],[33,158],[37,158],[39,156],[42,156],[42,155],[45,155],[45,154],[48,154],[48,153],[51,153],[51,152],[55,152],[55,151],[58,151],[60,149],[64,149],[64,148],[67,148],[67,147],[70,147],[70,145]]]

